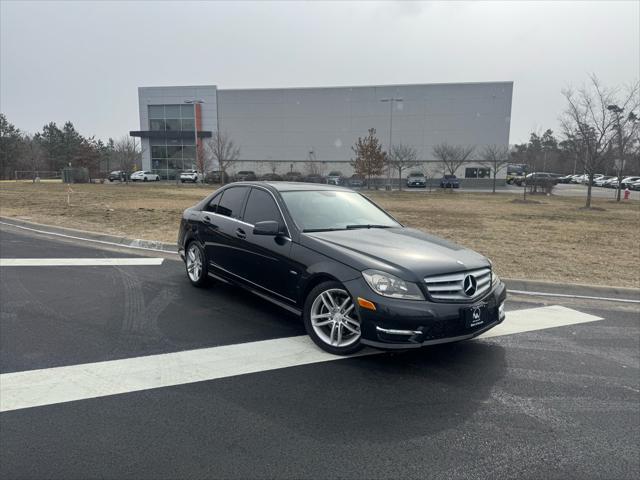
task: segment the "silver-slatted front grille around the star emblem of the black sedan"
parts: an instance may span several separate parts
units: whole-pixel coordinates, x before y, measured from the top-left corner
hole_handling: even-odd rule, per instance
[[[476,282],[476,291],[467,295],[464,291],[464,281],[472,276]],[[472,302],[486,294],[491,288],[491,269],[480,268],[460,273],[447,273],[426,277],[424,282],[432,300],[436,302]]]

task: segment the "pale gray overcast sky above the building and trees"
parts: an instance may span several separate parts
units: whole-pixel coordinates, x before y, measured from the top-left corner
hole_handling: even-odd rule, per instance
[[[513,80],[511,143],[557,128],[561,89],[640,77],[640,1],[0,0],[0,110],[34,132],[138,129],[137,87]]]

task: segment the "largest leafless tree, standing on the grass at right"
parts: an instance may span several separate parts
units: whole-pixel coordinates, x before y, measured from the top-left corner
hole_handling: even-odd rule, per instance
[[[589,84],[574,91],[562,91],[567,108],[561,117],[567,138],[574,138],[582,152],[581,161],[588,176],[585,208],[591,208],[591,188],[594,175],[611,162],[612,147],[616,137],[616,115],[607,109],[614,105],[615,91],[604,87],[595,75]]]

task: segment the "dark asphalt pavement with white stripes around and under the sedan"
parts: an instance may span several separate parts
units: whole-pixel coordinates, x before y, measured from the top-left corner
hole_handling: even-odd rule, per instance
[[[341,358],[174,255],[0,234],[3,478],[640,475],[638,303],[512,294],[484,338]]]

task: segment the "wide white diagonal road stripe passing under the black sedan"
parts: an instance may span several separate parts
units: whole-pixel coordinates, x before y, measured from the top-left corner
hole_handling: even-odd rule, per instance
[[[483,337],[510,335],[602,320],[570,308],[550,306],[507,312]],[[367,349],[359,355],[379,353]],[[280,368],[329,362],[307,336],[202,348],[145,357],[86,363],[0,375],[0,412],[170,387]]]

